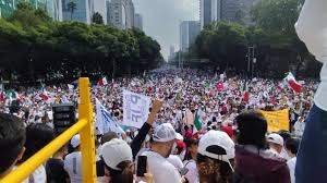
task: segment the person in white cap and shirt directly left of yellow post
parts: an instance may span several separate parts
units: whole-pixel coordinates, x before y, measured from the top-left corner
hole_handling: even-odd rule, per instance
[[[71,146],[74,151],[66,155],[63,161],[63,168],[70,175],[71,183],[82,182],[82,154],[80,151],[81,137],[76,134],[71,139]]]

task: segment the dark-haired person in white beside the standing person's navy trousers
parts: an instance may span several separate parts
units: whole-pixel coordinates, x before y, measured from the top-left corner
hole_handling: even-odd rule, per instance
[[[295,183],[295,164],[296,164],[296,154],[300,145],[299,138],[289,138],[286,142],[286,150],[290,157],[288,160],[288,167],[290,169],[291,183]]]

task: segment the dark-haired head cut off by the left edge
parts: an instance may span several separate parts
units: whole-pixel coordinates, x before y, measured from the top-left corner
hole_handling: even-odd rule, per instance
[[[26,139],[24,122],[17,117],[0,113],[0,174],[17,159]]]

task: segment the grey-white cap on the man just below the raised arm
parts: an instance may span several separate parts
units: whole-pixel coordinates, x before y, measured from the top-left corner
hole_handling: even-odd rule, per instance
[[[155,129],[153,139],[155,142],[166,143],[177,138],[174,129],[170,123],[164,123]]]

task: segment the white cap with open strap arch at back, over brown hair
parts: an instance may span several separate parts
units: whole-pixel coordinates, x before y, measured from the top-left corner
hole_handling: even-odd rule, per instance
[[[226,150],[225,155],[217,155],[214,152],[207,151],[209,146],[219,146]],[[227,133],[221,131],[209,131],[204,134],[198,142],[198,154],[203,156],[207,156],[209,158],[218,159],[230,164],[229,159],[233,159],[235,157],[235,145],[233,141],[228,136]],[[231,167],[231,164],[230,164]],[[232,167],[231,167],[232,169]],[[233,169],[232,169],[233,170]]]

